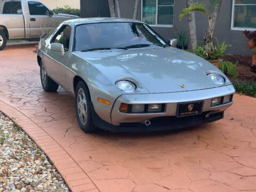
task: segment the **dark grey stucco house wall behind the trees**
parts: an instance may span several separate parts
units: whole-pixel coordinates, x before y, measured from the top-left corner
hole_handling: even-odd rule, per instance
[[[207,1],[207,0],[205,0]],[[135,0],[120,0],[122,17],[132,18],[134,10]],[[174,34],[177,30],[188,31],[187,17],[182,21],[179,21],[179,14],[181,10],[186,6],[185,0],[174,1],[174,27],[153,27],[160,35],[166,39],[174,38]],[[231,30],[231,15],[232,15],[232,0],[223,0],[219,15],[218,25],[214,31],[214,36],[219,41],[226,41],[226,43],[233,45],[229,47],[227,53],[251,55],[251,51],[247,47],[247,41],[243,35],[243,31]],[[141,20],[141,3],[138,14],[138,20]],[[203,36],[207,30],[208,21],[203,13],[196,13],[196,25],[197,25],[197,36],[198,43],[202,43]]]

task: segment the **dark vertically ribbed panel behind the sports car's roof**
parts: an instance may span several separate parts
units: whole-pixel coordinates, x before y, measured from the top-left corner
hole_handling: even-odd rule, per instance
[[[110,17],[108,0],[80,0],[81,17]]]

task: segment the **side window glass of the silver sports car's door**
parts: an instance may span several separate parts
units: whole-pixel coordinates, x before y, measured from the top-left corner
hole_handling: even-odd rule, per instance
[[[68,51],[69,50],[70,35],[71,35],[71,27],[63,26],[57,32],[57,34],[54,35],[54,37],[52,38],[51,43],[60,43],[64,46],[65,51]]]

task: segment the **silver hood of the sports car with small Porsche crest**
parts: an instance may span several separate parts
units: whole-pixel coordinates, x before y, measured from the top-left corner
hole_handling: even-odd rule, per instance
[[[206,74],[215,71],[223,75],[208,61],[173,47],[76,53],[113,84],[129,79],[150,93],[210,89],[219,85]],[[231,83],[227,79],[225,84]]]

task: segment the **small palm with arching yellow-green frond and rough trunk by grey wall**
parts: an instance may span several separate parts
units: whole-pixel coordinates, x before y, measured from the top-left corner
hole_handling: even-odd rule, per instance
[[[204,45],[206,47],[206,50],[211,50],[210,45],[213,42],[213,32],[218,20],[221,3],[222,0],[209,0],[209,3],[207,5],[196,2],[190,4],[189,7],[183,9],[180,13],[180,20],[182,20],[185,15],[194,11],[201,11],[207,15],[207,18],[209,20],[209,27],[204,36]]]

